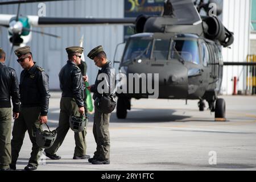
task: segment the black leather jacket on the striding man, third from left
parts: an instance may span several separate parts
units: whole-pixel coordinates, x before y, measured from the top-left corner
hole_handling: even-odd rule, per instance
[[[83,90],[85,87],[79,67],[72,61],[67,61],[67,64],[60,70],[59,78],[60,89],[62,91],[61,96],[75,98],[77,106],[84,106]]]

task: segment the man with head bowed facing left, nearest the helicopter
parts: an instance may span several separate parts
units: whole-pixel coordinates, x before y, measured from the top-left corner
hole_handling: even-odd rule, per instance
[[[104,76],[105,85],[108,88],[108,92],[104,92],[106,95],[113,96],[114,94],[114,83],[115,83],[115,70],[112,67],[112,63],[108,61],[106,53],[103,51],[102,46],[98,46],[88,53],[88,57],[94,61],[97,67],[101,70],[98,71],[98,76],[102,74]],[[95,84],[88,87],[90,92],[93,92],[93,100],[95,105],[95,100],[97,97],[101,97],[102,88],[99,84],[101,80],[96,78]],[[105,86],[104,85],[104,86]],[[94,152],[93,158],[88,159],[92,164],[110,164],[110,135],[109,135],[109,119],[110,114],[101,113],[97,107],[94,107],[94,121],[93,121],[93,135],[97,144],[96,151]]]

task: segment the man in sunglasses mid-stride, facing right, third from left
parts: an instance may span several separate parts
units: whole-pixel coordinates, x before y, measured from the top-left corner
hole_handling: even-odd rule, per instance
[[[61,68],[59,73],[61,100],[60,100],[60,118],[59,126],[57,127],[57,138],[52,147],[45,150],[46,156],[53,160],[60,159],[56,155],[65,136],[69,130],[69,117],[71,115],[80,116],[85,114],[84,109],[84,83],[82,81],[81,70],[77,65],[81,64],[81,53],[84,51],[82,47],[68,47],[67,64]],[[86,155],[86,142],[85,142],[86,129],[79,133],[75,133],[76,147],[73,159],[89,159],[90,156]]]

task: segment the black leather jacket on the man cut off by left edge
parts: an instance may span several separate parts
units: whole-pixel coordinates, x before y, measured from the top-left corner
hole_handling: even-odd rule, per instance
[[[11,107],[10,97],[14,113],[19,113],[19,82],[16,72],[0,62],[0,107]]]

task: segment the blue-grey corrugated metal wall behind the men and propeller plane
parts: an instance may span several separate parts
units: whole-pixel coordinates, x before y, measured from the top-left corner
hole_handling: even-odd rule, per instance
[[[38,15],[38,4],[23,4],[20,7],[22,15]],[[86,17],[94,18],[123,18],[123,1],[120,0],[84,0],[84,1],[60,1],[46,2],[46,16],[53,17]],[[16,14],[18,5],[0,6],[0,14]],[[114,57],[115,46],[123,41],[123,26],[82,26],[82,27],[58,27],[58,28],[33,28],[34,30],[49,32],[61,36],[61,39],[51,38],[40,34],[32,34],[31,46],[34,60],[42,66],[49,75],[51,89],[59,89],[59,71],[67,61],[65,48],[79,46],[79,40],[84,34],[85,56],[90,49],[102,45],[109,60]],[[6,28],[0,27],[0,47],[7,54],[10,52],[9,40],[7,40]],[[11,60],[16,60],[12,53]],[[98,68],[93,61],[86,57],[90,83],[93,83]],[[11,67],[15,68],[18,75],[22,71],[16,61],[12,61]]]

